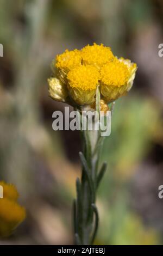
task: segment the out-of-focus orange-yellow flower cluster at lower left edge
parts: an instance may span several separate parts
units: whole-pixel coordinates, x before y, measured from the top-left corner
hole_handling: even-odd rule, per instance
[[[0,237],[9,236],[26,217],[26,210],[17,203],[18,192],[12,184],[0,181],[3,198],[0,199]]]

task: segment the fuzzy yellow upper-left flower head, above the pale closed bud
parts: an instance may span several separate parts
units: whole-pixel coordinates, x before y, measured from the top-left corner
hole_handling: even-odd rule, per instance
[[[66,50],[64,53],[57,55],[55,66],[58,69],[70,70],[75,66],[82,65],[82,56],[79,50]]]

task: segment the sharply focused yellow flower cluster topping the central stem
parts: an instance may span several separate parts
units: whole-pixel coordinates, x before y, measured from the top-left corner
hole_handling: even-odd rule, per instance
[[[80,51],[66,50],[52,62],[57,77],[48,80],[49,95],[73,105],[92,104],[99,85],[101,99],[109,103],[131,89],[136,69],[135,63],[118,59],[102,44],[87,45]]]

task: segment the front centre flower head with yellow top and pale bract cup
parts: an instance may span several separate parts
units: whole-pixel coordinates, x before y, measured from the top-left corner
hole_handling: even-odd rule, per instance
[[[84,105],[95,100],[99,81],[99,71],[95,66],[78,66],[68,72],[67,80],[70,95],[76,103]]]

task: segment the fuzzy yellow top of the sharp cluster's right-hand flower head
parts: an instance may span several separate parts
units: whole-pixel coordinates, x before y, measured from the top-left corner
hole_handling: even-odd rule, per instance
[[[107,86],[124,86],[129,79],[127,65],[120,61],[114,61],[101,69],[101,81]]]

